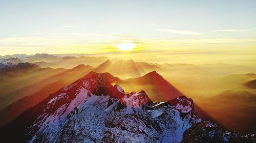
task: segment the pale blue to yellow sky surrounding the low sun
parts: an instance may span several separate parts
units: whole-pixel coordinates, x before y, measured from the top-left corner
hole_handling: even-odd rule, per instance
[[[144,54],[155,57],[152,61],[179,55],[177,62],[189,63],[183,55],[199,61],[218,53],[221,58],[232,55],[229,61],[253,61],[255,8],[256,1],[234,0],[3,0],[0,55],[46,52],[134,58]],[[123,41],[136,47],[120,51],[115,45]]]

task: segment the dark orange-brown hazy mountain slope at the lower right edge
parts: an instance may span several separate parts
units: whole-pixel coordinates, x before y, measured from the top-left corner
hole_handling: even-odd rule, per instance
[[[224,91],[199,103],[212,119],[233,131],[256,133],[256,95],[246,91]]]

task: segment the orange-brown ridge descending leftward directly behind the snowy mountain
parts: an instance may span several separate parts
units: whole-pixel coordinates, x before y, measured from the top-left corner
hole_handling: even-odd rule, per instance
[[[0,123],[0,126],[6,125],[17,116],[19,116],[20,113],[24,112],[28,108],[33,107],[34,105],[47,98],[50,93],[59,90],[63,86],[71,84],[78,78],[82,78],[85,74],[88,74],[93,69],[93,67],[85,65],[78,65],[77,67],[70,70],[55,69],[54,71],[42,73],[44,74],[45,78],[38,78],[37,80],[37,77],[34,77],[33,79],[35,79],[36,82],[33,82],[32,85],[29,84],[24,88],[20,88],[19,90],[17,90],[17,92],[15,92],[16,85],[10,84],[13,87],[11,91],[15,97],[21,95],[23,95],[24,97],[11,103],[10,105],[7,104],[8,106],[0,111],[0,120],[2,121]],[[28,79],[26,80],[29,81]],[[6,95],[7,99],[8,97],[10,97],[10,94],[8,93],[2,93],[2,95]],[[1,99],[3,101],[7,100],[6,98]]]

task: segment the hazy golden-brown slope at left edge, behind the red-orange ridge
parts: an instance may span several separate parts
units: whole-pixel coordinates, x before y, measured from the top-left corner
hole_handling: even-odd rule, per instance
[[[36,84],[38,81],[49,78],[52,75],[65,70],[66,69],[36,68],[30,70],[12,70],[8,73],[1,73],[0,108],[9,105],[24,96],[33,94],[38,89],[44,87],[44,84]],[[54,82],[56,81],[58,80],[55,80]]]

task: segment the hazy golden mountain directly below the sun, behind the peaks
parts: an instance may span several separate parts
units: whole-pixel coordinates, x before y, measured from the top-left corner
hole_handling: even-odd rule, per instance
[[[118,60],[112,63],[110,60],[100,64],[95,72],[109,72],[115,76],[127,78],[127,77],[140,77],[141,75],[154,71],[161,70],[161,68],[155,64],[146,62],[135,62],[133,60]]]

